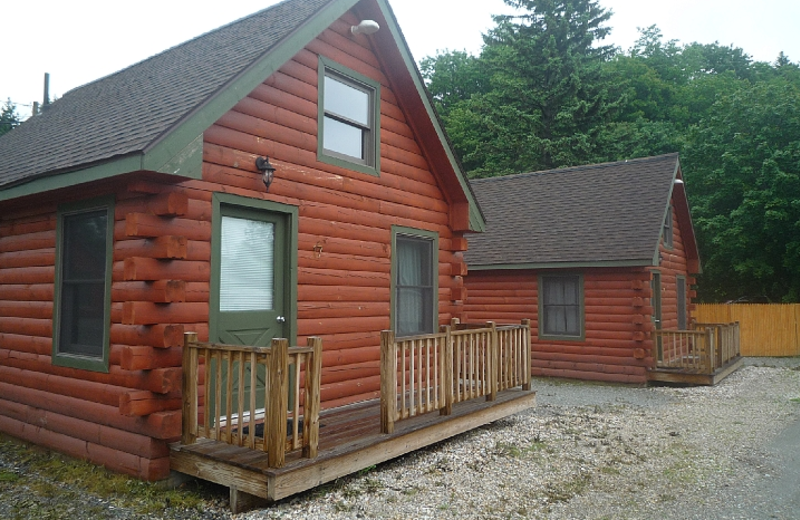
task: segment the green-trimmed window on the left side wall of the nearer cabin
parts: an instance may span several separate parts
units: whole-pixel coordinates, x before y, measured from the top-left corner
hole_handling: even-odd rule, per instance
[[[113,201],[59,209],[53,363],[108,370]]]

